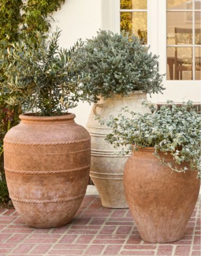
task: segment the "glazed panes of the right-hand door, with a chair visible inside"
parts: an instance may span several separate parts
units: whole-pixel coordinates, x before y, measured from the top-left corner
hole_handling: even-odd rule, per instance
[[[200,77],[200,1],[167,0],[167,80]],[[185,47],[184,47],[185,46]]]

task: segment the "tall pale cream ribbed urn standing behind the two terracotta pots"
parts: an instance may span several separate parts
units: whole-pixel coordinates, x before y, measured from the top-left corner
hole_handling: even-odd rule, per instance
[[[121,147],[114,148],[105,141],[107,134],[112,129],[94,119],[94,115],[101,119],[108,119],[110,115],[117,117],[121,108],[129,107],[130,110],[147,113],[149,108],[142,105],[147,102],[147,94],[137,91],[126,97],[115,95],[112,99],[99,100],[94,104],[90,113],[87,130],[92,137],[92,165],[90,178],[93,180],[102,205],[109,208],[127,208],[123,190],[123,170],[129,155],[120,156]]]

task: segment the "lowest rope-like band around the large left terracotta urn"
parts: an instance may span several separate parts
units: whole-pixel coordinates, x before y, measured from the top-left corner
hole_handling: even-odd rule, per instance
[[[76,200],[79,199],[81,197],[84,197],[85,193],[78,195],[78,196],[74,196],[74,197],[68,197],[68,198],[60,198],[60,199],[49,199],[49,200],[34,200],[34,199],[20,199],[20,198],[14,198],[11,197],[12,201],[16,201],[16,202],[24,202],[25,204],[51,204],[54,202],[67,202],[67,201],[72,201],[72,200]]]

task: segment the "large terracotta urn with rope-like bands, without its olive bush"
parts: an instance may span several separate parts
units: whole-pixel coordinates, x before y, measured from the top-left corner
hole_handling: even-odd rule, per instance
[[[65,225],[86,193],[90,136],[75,114],[20,116],[4,138],[5,174],[10,198],[33,227]]]

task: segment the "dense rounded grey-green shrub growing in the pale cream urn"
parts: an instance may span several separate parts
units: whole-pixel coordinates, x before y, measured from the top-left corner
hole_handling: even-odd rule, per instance
[[[113,94],[136,90],[149,94],[164,90],[157,69],[158,57],[148,53],[138,37],[124,31],[97,32],[76,52],[76,58],[80,69],[90,76],[83,88],[94,102],[98,96],[111,98]]]

